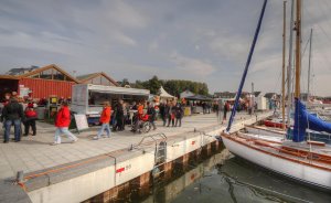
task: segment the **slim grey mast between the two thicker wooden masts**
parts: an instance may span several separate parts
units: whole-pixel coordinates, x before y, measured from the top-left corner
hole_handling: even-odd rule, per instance
[[[290,34],[289,34],[289,53],[287,67],[287,126],[290,126],[290,111],[292,105],[292,45],[293,45],[293,13],[295,0],[291,0],[291,18],[290,18]]]

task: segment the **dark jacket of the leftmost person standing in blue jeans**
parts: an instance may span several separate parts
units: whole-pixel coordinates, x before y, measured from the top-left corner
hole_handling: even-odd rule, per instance
[[[18,100],[12,99],[2,110],[2,117],[6,120],[17,120],[24,117],[23,106]]]

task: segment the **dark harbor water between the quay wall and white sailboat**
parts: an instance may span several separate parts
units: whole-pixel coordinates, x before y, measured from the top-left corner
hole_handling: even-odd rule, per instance
[[[190,162],[142,202],[317,202],[330,203],[330,191],[295,182],[231,154],[224,147],[201,162]]]

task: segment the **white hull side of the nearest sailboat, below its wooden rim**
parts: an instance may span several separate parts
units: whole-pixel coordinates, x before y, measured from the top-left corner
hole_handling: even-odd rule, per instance
[[[281,157],[268,154],[267,152],[247,147],[224,136],[222,136],[222,140],[232,153],[250,162],[286,177],[331,190],[331,172],[328,170],[300,164]]]

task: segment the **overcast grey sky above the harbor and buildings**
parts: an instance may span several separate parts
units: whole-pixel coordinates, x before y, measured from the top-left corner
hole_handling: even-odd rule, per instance
[[[105,72],[130,82],[158,75],[205,82],[211,93],[236,90],[261,6],[263,0],[0,0],[0,73],[56,64],[78,75]],[[331,96],[330,10],[329,0],[303,1],[302,50],[313,28],[312,92],[322,96]],[[269,0],[246,90],[254,82],[256,90],[280,92],[281,34],[282,1]],[[302,92],[307,70],[308,49]]]

